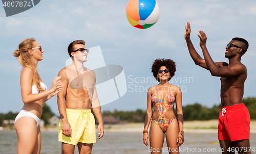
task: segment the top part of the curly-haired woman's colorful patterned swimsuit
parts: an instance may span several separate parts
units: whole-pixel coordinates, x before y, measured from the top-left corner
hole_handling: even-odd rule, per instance
[[[157,90],[158,90],[159,85],[157,86]],[[160,111],[163,109],[169,109],[170,107],[174,106],[174,102],[175,102],[175,97],[174,95],[172,95],[170,93],[170,85],[169,85],[169,95],[166,96],[163,99],[160,99],[157,95],[157,91],[156,93],[152,96],[151,101],[153,102],[153,105],[156,106],[158,108],[158,110]]]

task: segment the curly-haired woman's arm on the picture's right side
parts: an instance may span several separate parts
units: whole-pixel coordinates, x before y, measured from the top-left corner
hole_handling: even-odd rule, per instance
[[[182,93],[180,87],[176,86],[176,108],[177,108],[177,119],[179,124],[179,134],[177,136],[178,146],[184,142],[184,131],[183,131],[183,112],[182,112]]]

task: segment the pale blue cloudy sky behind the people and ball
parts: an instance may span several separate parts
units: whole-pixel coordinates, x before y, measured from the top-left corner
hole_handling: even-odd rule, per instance
[[[18,112],[23,107],[19,86],[22,67],[12,53],[21,41],[30,37],[45,50],[44,60],[38,63],[38,72],[48,88],[58,71],[65,67],[69,58],[67,47],[74,40],[85,40],[87,48],[100,45],[107,65],[123,67],[127,92],[102,106],[102,110],[145,110],[146,90],[157,84],[151,73],[151,65],[157,58],[172,59],[177,63],[172,84],[183,88],[183,105],[199,102],[211,107],[219,104],[220,78],[195,65],[189,56],[184,39],[184,25],[188,20],[191,40],[198,53],[202,56],[197,36],[200,29],[207,35],[206,46],[215,62],[228,62],[224,57],[225,47],[233,37],[242,37],[249,42],[247,53],[242,57],[248,71],[244,97],[255,96],[255,1],[158,0],[159,20],[146,30],[130,25],[125,15],[128,2],[40,1],[35,7],[10,17],[6,17],[1,6],[0,113]],[[56,96],[47,104],[58,114]]]

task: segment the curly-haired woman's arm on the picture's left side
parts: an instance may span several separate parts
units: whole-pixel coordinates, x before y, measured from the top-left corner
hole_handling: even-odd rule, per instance
[[[150,125],[150,120],[152,117],[152,91],[153,91],[153,87],[148,88],[147,91],[147,109],[146,109],[146,117],[145,117],[145,123],[144,123],[144,130],[143,131],[147,131],[148,130],[148,126]],[[148,133],[143,133],[143,143],[147,146],[149,145],[150,142],[150,138],[148,136]]]

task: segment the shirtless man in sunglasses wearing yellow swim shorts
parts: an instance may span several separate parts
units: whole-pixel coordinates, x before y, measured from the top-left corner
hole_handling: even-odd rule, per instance
[[[86,42],[76,40],[69,44],[68,53],[73,63],[61,69],[60,84],[63,86],[57,95],[60,114],[58,140],[62,142],[61,153],[74,153],[77,144],[79,153],[91,153],[96,142],[95,120],[97,118],[98,139],[104,134],[101,108],[96,91],[96,76],[93,70],[83,67],[89,50]]]

